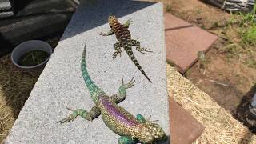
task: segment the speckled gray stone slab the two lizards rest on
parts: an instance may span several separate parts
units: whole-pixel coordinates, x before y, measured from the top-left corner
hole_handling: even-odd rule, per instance
[[[112,60],[117,40],[114,36],[99,35],[110,29],[106,23],[110,13],[116,14],[120,22],[132,18],[132,38],[154,51],[140,54],[134,48],[135,57],[153,83],[146,80],[125,51],[122,57]],[[118,92],[122,78],[128,82],[134,77],[135,86],[127,90],[127,98],[120,106],[134,115],[151,115],[170,134],[162,3],[98,0],[79,6],[6,143],[118,143],[119,136],[105,126],[101,116],[93,122],[76,118],[67,124],[56,123],[70,114],[66,106],[86,110],[94,106],[80,70],[85,42],[86,66],[93,81],[112,95]]]

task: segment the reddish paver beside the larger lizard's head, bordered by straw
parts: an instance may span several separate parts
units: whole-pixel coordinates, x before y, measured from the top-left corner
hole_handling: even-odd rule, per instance
[[[204,126],[186,112],[173,98],[169,98],[170,143],[191,144],[204,130]]]

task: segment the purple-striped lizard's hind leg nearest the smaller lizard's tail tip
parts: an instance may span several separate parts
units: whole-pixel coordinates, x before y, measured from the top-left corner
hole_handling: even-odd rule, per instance
[[[122,102],[124,99],[126,99],[126,89],[129,89],[132,86],[134,86],[134,82],[134,78],[131,78],[130,82],[125,84],[122,79],[122,85],[118,89],[118,94],[114,94],[110,98],[112,98],[116,103]]]

